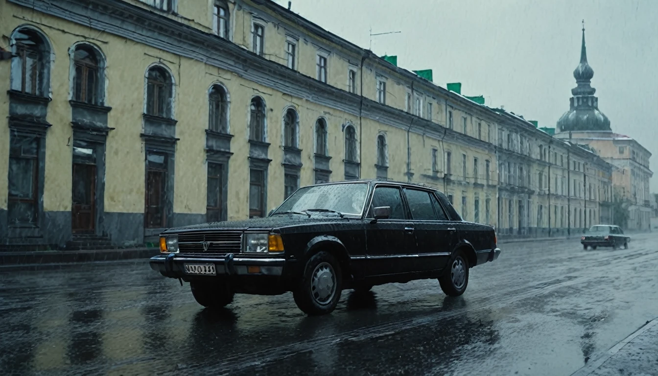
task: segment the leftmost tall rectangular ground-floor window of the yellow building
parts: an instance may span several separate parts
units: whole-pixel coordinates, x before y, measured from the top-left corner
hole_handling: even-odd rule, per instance
[[[38,213],[39,138],[10,136],[9,202],[10,226],[36,226]]]

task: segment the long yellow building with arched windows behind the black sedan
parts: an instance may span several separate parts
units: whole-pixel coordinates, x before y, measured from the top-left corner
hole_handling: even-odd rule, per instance
[[[152,242],[403,180],[500,236],[605,217],[613,167],[273,1],[0,0],[0,244]]]

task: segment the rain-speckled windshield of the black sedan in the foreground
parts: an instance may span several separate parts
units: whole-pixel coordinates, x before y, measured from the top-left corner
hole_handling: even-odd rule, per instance
[[[361,215],[368,194],[367,183],[324,184],[299,188],[272,215],[313,209]]]

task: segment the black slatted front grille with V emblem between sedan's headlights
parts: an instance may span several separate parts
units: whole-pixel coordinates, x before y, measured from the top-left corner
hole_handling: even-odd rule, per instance
[[[198,231],[178,234],[181,254],[238,254],[242,245],[242,232]]]

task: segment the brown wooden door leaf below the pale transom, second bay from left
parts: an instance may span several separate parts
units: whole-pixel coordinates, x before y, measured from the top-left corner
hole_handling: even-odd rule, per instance
[[[96,166],[73,164],[72,230],[76,233],[93,233],[95,229]]]

